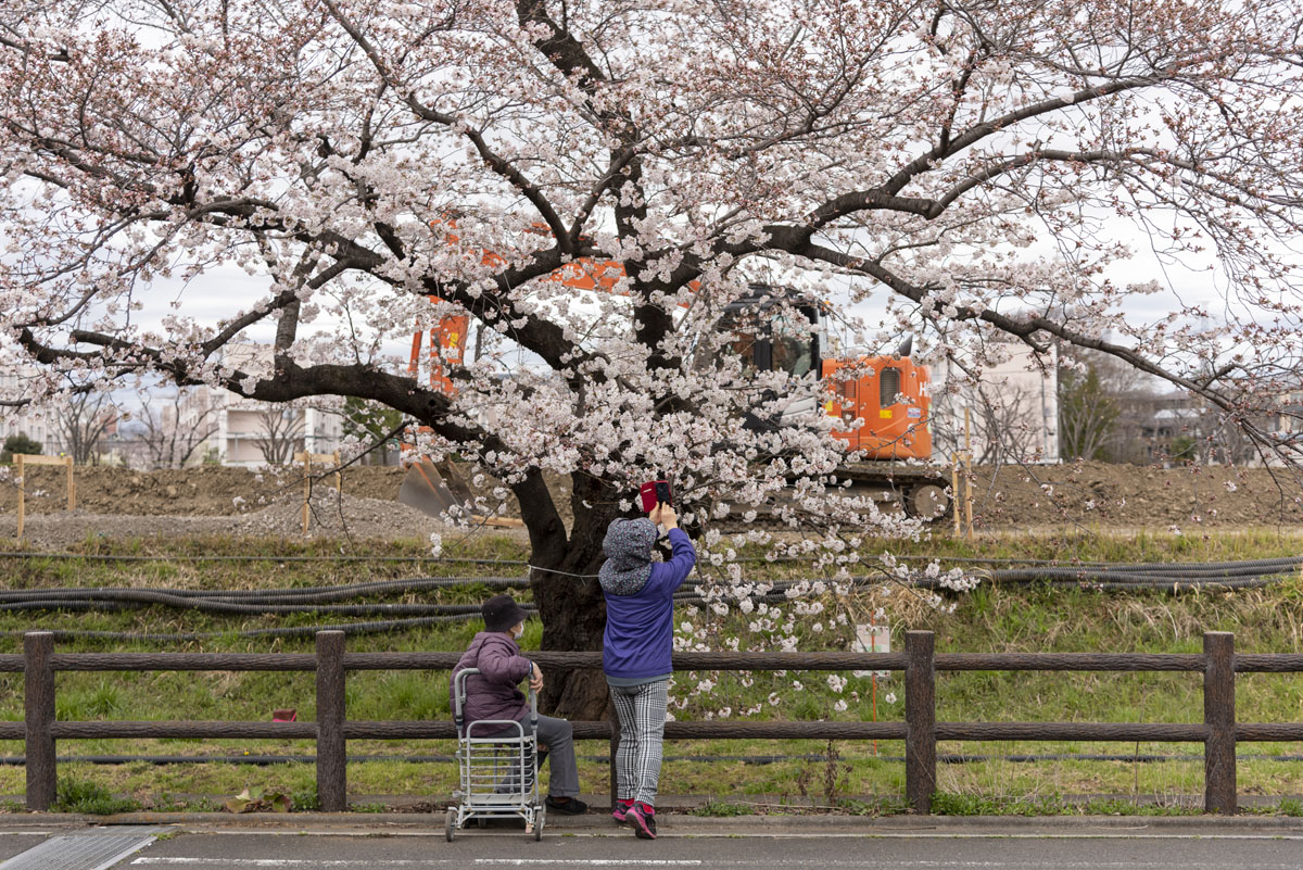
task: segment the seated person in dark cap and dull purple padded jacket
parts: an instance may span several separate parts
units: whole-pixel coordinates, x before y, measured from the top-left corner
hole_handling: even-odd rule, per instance
[[[529,677],[529,686],[543,688],[543,672],[520,654],[516,641],[525,633],[529,615],[516,606],[511,595],[494,595],[480,612],[485,617],[485,630],[476,634],[470,646],[452,668],[450,681],[450,709],[456,710],[451,698],[457,671],[480,668],[478,675],[466,677],[466,699],[463,706],[466,723],[485,719],[513,719],[529,729],[529,699],[516,684]],[[504,732],[506,733],[506,732]],[[487,735],[486,735],[487,736]],[[538,742],[546,745],[551,757],[547,809],[564,815],[588,811],[588,804],[579,800],[579,770],[575,766],[575,741],[571,724],[552,716],[538,718]],[[539,755],[542,759],[542,755]]]

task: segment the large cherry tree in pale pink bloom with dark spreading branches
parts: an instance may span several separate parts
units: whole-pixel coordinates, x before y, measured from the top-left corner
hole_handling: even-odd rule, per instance
[[[599,643],[597,586],[569,574],[594,573],[653,473],[728,582],[744,539],[835,577],[859,535],[899,529],[829,498],[847,458],[830,423],[743,425],[822,397],[727,353],[726,306],[756,285],[851,319],[881,302],[868,350],[903,331],[972,370],[997,333],[1100,350],[1246,426],[1246,397],[1296,367],[1300,0],[0,10],[12,353],[51,389],[152,371],[403,412],[426,452],[474,457],[519,499],[549,647]],[[1162,285],[1127,268],[1136,251],[1213,263],[1217,310],[1139,316]],[[606,260],[615,293],[549,280]],[[189,313],[231,267],[263,298]],[[175,310],[141,322],[156,298]],[[443,314],[498,336],[440,366],[455,393],[384,354]],[[224,362],[265,323],[271,358]],[[569,525],[545,473],[571,479]],[[721,531],[762,504],[801,534]],[[599,686],[564,677],[551,701],[590,710]]]

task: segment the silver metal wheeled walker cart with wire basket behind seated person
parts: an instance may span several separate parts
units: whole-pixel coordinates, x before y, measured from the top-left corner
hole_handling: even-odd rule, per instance
[[[519,818],[525,834],[543,839],[547,810],[538,796],[538,694],[529,690],[529,729],[513,719],[465,722],[466,679],[480,668],[464,668],[452,680],[452,719],[457,727],[460,802],[448,807],[444,834],[452,843],[466,822]]]

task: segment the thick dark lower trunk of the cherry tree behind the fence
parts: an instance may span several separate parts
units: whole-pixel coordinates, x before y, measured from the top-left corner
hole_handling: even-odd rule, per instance
[[[541,481],[539,481],[541,483]],[[534,501],[541,494],[532,494]],[[517,496],[520,491],[517,490]],[[551,507],[549,495],[549,507]],[[602,649],[606,600],[598,585],[602,539],[606,526],[619,516],[618,498],[609,486],[588,475],[573,477],[571,495],[575,525],[567,535],[547,533],[550,520],[533,513],[541,505],[521,499],[521,513],[530,531],[529,585],[543,620],[545,650],[589,651]],[[590,507],[585,507],[590,505]],[[532,516],[533,514],[533,516]],[[555,511],[552,511],[555,516]],[[530,522],[533,520],[533,522]],[[555,517],[560,527],[560,517]],[[536,525],[541,526],[536,534]],[[545,712],[575,720],[605,719],[610,697],[601,671],[545,672],[539,703]]]

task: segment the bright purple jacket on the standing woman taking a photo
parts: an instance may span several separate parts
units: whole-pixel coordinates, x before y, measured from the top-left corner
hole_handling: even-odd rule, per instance
[[[606,594],[602,669],[612,677],[658,677],[674,667],[674,593],[697,564],[697,551],[681,529],[670,530],[670,561],[652,564],[646,582],[632,594]],[[614,554],[612,554],[614,555]],[[618,555],[614,555],[618,557]],[[611,586],[610,589],[607,586]]]

